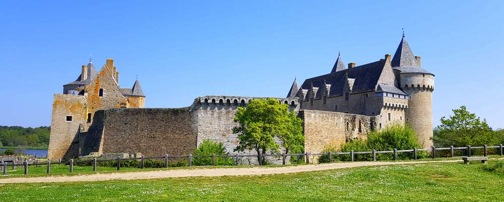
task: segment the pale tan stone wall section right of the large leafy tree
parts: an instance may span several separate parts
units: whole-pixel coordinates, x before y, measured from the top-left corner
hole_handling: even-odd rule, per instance
[[[322,153],[326,146],[340,148],[349,139],[366,139],[376,127],[374,116],[317,110],[300,110],[298,116],[304,120],[304,150],[310,153]]]

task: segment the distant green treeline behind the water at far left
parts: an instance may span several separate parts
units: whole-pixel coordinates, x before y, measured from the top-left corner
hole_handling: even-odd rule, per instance
[[[0,147],[47,147],[51,128],[0,125]]]

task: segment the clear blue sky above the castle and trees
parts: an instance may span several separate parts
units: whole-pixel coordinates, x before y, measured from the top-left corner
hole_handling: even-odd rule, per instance
[[[435,74],[433,121],[467,105],[504,126],[501,1],[9,1],[0,9],[0,125],[50,125],[52,97],[93,55],[146,107],[204,95],[285,97],[294,77],[394,54],[401,28]]]

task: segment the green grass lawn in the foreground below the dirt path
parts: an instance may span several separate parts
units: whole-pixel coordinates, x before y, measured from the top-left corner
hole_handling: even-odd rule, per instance
[[[500,161],[501,163],[504,163]],[[0,184],[3,201],[501,201],[504,170],[428,163],[263,176]]]

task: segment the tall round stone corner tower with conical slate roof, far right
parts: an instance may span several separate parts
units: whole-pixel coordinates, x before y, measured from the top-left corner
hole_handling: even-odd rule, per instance
[[[421,68],[420,57],[413,55],[404,34],[391,63],[399,87],[410,95],[406,122],[415,131],[419,143],[424,148],[431,147],[434,75]]]

